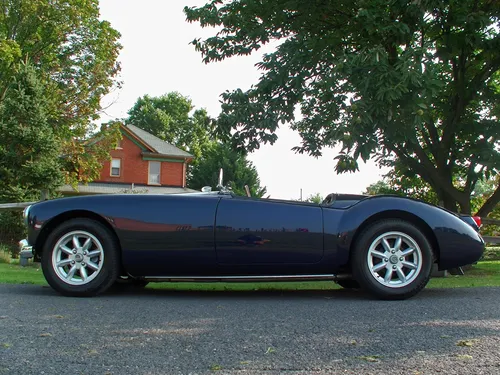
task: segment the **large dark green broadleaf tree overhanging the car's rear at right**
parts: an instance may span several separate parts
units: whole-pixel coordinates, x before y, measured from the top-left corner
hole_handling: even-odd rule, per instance
[[[280,41],[258,83],[222,95],[218,130],[235,147],[272,144],[291,123],[295,151],[341,145],[338,173],[371,157],[401,166],[464,213],[499,172],[500,2],[213,0],[185,13],[219,28],[193,41],[206,63]],[[497,186],[479,213],[499,201]]]

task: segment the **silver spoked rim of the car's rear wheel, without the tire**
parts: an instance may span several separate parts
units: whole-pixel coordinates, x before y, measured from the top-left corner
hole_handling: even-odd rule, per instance
[[[423,258],[412,237],[402,232],[387,232],[371,243],[366,260],[377,282],[390,288],[402,288],[418,277]]]

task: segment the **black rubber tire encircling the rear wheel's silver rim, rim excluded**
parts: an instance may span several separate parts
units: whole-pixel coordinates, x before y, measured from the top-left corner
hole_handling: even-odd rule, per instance
[[[402,232],[413,238],[422,252],[422,267],[417,277],[404,287],[391,288],[380,284],[373,277],[368,266],[368,250],[373,241],[380,235],[387,232]],[[385,299],[405,299],[421,291],[429,281],[432,271],[434,255],[432,247],[415,225],[402,220],[381,220],[366,228],[359,236],[354,245],[352,256],[352,272],[354,278],[360,283],[363,289],[374,293],[376,296]]]

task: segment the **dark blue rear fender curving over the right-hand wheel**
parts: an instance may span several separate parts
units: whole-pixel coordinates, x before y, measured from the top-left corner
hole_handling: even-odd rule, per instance
[[[346,209],[339,226],[339,259],[348,258],[354,236],[363,222],[384,212],[402,216],[411,214],[427,224],[439,247],[438,265],[441,270],[473,263],[484,251],[481,236],[448,211],[413,199],[375,196]]]

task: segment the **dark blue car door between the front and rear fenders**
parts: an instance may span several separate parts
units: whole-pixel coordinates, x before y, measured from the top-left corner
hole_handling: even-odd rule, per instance
[[[323,257],[318,205],[226,197],[216,214],[217,262],[224,265],[299,265]]]

